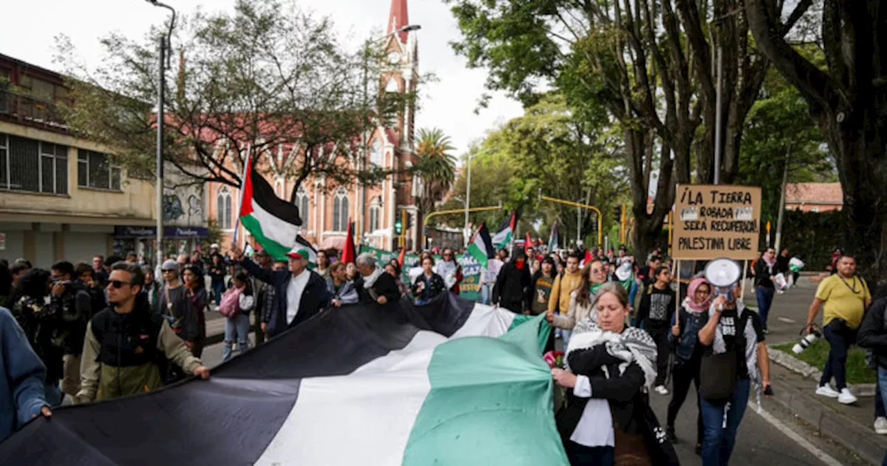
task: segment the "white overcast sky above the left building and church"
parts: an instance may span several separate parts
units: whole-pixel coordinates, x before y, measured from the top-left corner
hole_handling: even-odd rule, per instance
[[[234,0],[164,0],[179,13],[204,10],[233,10]],[[340,36],[360,42],[386,25],[390,0],[296,0],[299,5],[333,18]],[[521,105],[504,95],[495,95],[490,107],[474,114],[477,99],[484,91],[485,70],[471,70],[465,59],[456,57],[449,42],[459,37],[459,28],[449,8],[441,0],[409,0],[412,24],[422,28],[419,35],[420,72],[434,73],[439,79],[420,89],[422,108],[416,115],[418,128],[437,127],[450,135],[456,154],[463,154],[469,143],[483,138],[484,132],[514,116]],[[152,24],[160,24],[167,11],[142,0],[27,0],[4,2],[0,27],[0,53],[35,65],[58,69],[53,63],[54,37],[71,38],[77,55],[90,66],[101,57],[99,37],[108,32],[142,38]]]

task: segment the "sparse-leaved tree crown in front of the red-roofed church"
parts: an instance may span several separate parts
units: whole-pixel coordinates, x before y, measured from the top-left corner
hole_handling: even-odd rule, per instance
[[[238,0],[233,14],[197,12],[184,20],[173,41],[176,90],[165,99],[165,160],[189,182],[230,186],[240,185],[247,154],[296,184],[310,175],[339,184],[385,176],[363,170],[354,154],[366,153],[361,135],[390,122],[413,95],[381,95],[379,83],[365,77],[378,75],[381,50],[346,51],[333,29],[329,19],[276,0]],[[91,71],[66,59],[72,54],[64,40],[59,50],[74,76],[69,126],[143,174],[153,173],[160,35],[154,28],[143,42],[102,39],[105,57]],[[365,95],[380,97],[366,105]]]

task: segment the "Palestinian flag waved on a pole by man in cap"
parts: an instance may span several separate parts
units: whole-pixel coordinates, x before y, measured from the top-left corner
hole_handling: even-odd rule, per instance
[[[277,260],[287,260],[287,252],[296,246],[299,236],[299,208],[280,199],[274,188],[260,173],[253,170],[252,157],[247,157],[240,186],[239,220],[255,236],[255,240]]]

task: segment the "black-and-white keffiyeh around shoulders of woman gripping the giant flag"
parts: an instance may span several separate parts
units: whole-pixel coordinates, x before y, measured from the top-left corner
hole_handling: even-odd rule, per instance
[[[636,362],[644,371],[644,386],[648,389],[653,386],[656,378],[656,344],[645,330],[630,327],[617,334],[601,329],[591,319],[580,320],[573,328],[564,360],[569,360],[570,351],[586,350],[599,344],[607,345],[610,355],[624,361],[619,365],[620,375],[629,364]],[[604,374],[609,378],[606,367],[604,369]]]

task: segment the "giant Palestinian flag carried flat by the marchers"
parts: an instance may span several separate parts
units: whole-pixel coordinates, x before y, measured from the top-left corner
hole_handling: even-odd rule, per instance
[[[343,306],[208,381],[55,407],[0,444],[0,464],[568,466],[549,332],[449,293]]]

